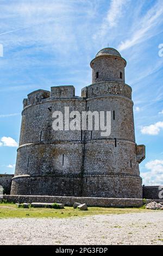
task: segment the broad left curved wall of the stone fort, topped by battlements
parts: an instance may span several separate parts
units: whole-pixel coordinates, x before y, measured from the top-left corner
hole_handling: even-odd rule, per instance
[[[73,96],[73,87],[53,87],[51,96],[38,100],[30,94],[22,111],[11,194],[82,196],[83,140],[81,131],[54,131],[54,111],[85,111],[86,102]],[[43,92],[42,92],[43,93]]]

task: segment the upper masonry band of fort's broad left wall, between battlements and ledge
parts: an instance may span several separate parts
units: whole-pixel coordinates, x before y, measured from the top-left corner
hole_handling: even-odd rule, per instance
[[[22,112],[20,145],[38,141],[80,141],[81,131],[54,131],[52,124],[54,111],[65,113],[65,107],[71,111],[85,111],[83,99],[46,100],[27,106]]]

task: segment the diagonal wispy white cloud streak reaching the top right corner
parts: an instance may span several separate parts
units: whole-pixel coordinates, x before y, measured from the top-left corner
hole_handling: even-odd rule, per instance
[[[137,27],[133,28],[134,33],[129,39],[121,42],[121,44],[118,46],[118,50],[122,51],[130,48],[131,46],[139,44],[140,42],[145,41],[155,35],[157,33],[155,27],[161,23],[162,14],[163,5],[161,1],[158,1],[155,6],[147,11],[147,14],[144,17],[136,23]]]

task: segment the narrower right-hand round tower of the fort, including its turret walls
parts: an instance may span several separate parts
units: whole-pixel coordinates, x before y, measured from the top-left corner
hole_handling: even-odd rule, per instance
[[[92,112],[111,112],[111,133],[101,136],[101,130],[86,131],[83,196],[142,197],[133,101],[131,87],[124,83],[125,66],[121,56],[107,56],[106,52],[91,62],[92,84],[83,89],[86,107]]]

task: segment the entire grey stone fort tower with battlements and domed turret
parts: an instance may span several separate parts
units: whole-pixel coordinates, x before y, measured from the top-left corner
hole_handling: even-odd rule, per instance
[[[139,163],[145,146],[136,145],[126,60],[104,48],[91,61],[92,84],[75,96],[73,86],[36,90],[23,100],[20,145],[11,194],[141,198]],[[111,134],[54,131],[52,113],[111,111]]]

